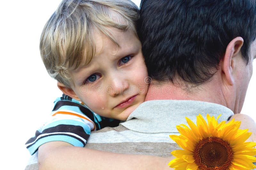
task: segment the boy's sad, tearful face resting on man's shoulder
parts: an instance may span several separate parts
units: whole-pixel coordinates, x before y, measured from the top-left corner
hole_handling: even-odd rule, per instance
[[[120,47],[95,31],[95,56],[88,65],[71,72],[72,89],[95,113],[126,120],[145,100],[148,72],[134,33],[114,28],[109,32]]]

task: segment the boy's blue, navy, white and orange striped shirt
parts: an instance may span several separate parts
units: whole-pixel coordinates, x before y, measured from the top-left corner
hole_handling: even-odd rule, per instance
[[[97,115],[84,103],[63,94],[54,101],[49,120],[25,145],[31,155],[40,145],[50,141],[64,141],[83,147],[91,131],[100,130],[106,126],[117,126],[118,123],[117,120]]]

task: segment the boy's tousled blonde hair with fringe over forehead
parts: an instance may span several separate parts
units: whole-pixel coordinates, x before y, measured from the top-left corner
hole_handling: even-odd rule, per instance
[[[71,87],[69,71],[87,65],[95,54],[93,30],[98,29],[119,46],[108,28],[131,29],[136,34],[137,12],[130,0],[63,0],[40,39],[48,74]]]

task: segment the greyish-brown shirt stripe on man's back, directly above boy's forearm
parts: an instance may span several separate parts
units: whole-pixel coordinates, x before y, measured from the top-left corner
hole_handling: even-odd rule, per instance
[[[171,152],[181,149],[176,143],[154,143],[154,142],[123,142],[123,143],[87,143],[86,148],[100,151],[154,155],[170,157]]]

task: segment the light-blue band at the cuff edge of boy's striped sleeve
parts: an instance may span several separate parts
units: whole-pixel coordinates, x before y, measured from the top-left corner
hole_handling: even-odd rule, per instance
[[[84,144],[81,141],[77,140],[76,138],[72,138],[66,135],[54,135],[54,136],[46,136],[44,138],[37,140],[36,143],[34,143],[28,148],[28,151],[30,152],[31,155],[33,155],[37,151],[39,146],[43,145],[46,142],[52,142],[52,141],[64,141],[74,146],[84,147]]]

